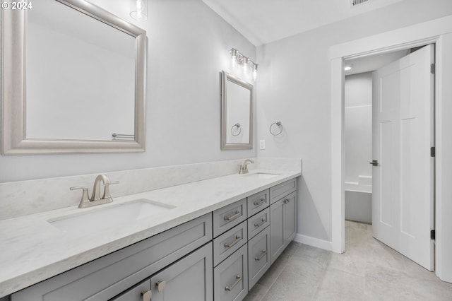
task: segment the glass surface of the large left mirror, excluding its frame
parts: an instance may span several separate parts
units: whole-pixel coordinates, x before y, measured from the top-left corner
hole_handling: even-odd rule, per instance
[[[28,13],[26,47],[26,138],[134,134],[135,37],[40,0]]]

